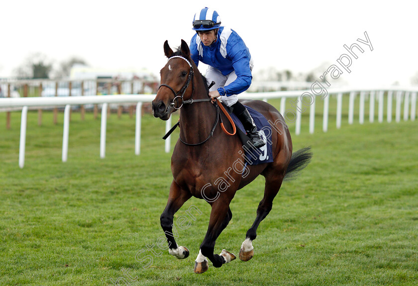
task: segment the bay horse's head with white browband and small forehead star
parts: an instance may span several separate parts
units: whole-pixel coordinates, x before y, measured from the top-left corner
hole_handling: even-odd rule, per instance
[[[154,117],[167,120],[183,105],[184,100],[191,98],[194,69],[189,46],[184,40],[176,52],[165,41],[164,54],[168,61],[160,71],[161,85],[152,101],[152,113]]]

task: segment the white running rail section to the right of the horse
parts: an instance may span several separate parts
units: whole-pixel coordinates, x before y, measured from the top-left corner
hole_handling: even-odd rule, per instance
[[[386,101],[387,108],[387,121],[392,121],[393,114],[393,102],[395,101],[395,120],[399,122],[401,120],[402,104],[404,104],[403,117],[404,120],[415,120],[417,116],[417,93],[418,87],[416,88],[400,88],[400,87],[388,87],[388,88],[361,88],[361,89],[329,89],[326,91],[326,95],[322,97],[323,100],[323,118],[322,118],[322,131],[326,132],[328,130],[328,121],[329,121],[329,98],[331,95],[336,96],[337,105],[336,105],[336,127],[341,127],[341,117],[342,117],[342,98],[343,95],[348,95],[348,123],[352,124],[354,122],[354,110],[355,110],[355,98],[359,96],[359,123],[364,123],[365,117],[365,101],[366,97],[369,100],[369,121],[374,122],[375,118],[375,105],[377,101],[377,114],[378,122],[383,122],[384,115],[384,102]],[[267,101],[272,98],[280,98],[280,113],[285,117],[286,122],[292,121],[296,124],[296,135],[299,135],[301,132],[301,117],[303,110],[309,109],[309,132],[314,133],[314,120],[315,120],[315,102],[318,101],[318,98],[321,98],[319,95],[314,95],[315,100],[304,100],[304,98],[311,98],[309,95],[313,96],[314,91],[312,90],[303,90],[303,91],[283,91],[283,92],[268,92],[268,93],[246,93],[242,95],[245,98],[252,99],[262,99]],[[293,97],[296,98],[295,101],[292,101],[294,109],[286,109],[286,98]],[[386,100],[385,100],[386,98]],[[291,118],[286,116],[287,113],[291,114]],[[307,112],[308,113],[308,112]],[[290,120],[289,120],[290,119]],[[294,119],[294,120],[293,120]]]

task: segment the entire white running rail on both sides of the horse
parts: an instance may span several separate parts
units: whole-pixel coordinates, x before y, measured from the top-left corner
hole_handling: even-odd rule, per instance
[[[384,102],[386,101],[387,108],[387,121],[392,121],[392,105],[395,101],[395,120],[399,122],[401,120],[401,108],[404,104],[403,116],[404,120],[416,119],[417,108],[417,92],[418,88],[401,89],[401,88],[385,88],[385,89],[333,89],[326,91],[326,95],[323,99],[323,119],[322,130],[326,132],[328,130],[329,120],[329,97],[335,95],[336,104],[336,127],[341,127],[341,114],[342,114],[342,98],[348,96],[348,123],[354,122],[354,109],[355,98],[359,96],[359,123],[364,122],[365,117],[365,101],[366,97],[369,100],[369,121],[374,122],[375,118],[375,102],[377,102],[377,114],[378,121],[383,122],[384,118]],[[313,97],[316,100],[305,100],[312,96],[314,91],[284,91],[284,92],[268,92],[268,93],[244,93],[240,95],[241,98],[262,99],[267,101],[272,98],[280,98],[280,112],[285,116],[285,119],[289,121],[288,116],[291,115],[290,121],[295,122],[296,135],[301,132],[301,117],[304,110],[309,109],[309,132],[314,133],[314,118],[315,118],[315,101],[320,96]],[[143,102],[151,102],[155,94],[153,95],[107,95],[107,96],[53,96],[53,97],[21,97],[21,98],[0,98],[1,108],[22,108],[21,110],[21,126],[20,126],[20,146],[19,146],[19,167],[24,166],[25,156],[25,140],[26,140],[26,119],[28,107],[37,108],[50,108],[56,106],[65,106],[64,108],[64,132],[63,132],[63,147],[62,147],[62,161],[67,161],[68,155],[68,136],[69,136],[69,124],[70,124],[70,111],[72,105],[84,105],[84,104],[103,104],[102,116],[101,116],[101,137],[100,137],[100,157],[105,156],[105,142],[106,142],[106,120],[107,120],[107,104],[110,103],[135,103],[136,104],[136,118],[135,118],[135,154],[140,154],[140,138],[141,138],[141,106]],[[295,98],[292,100],[292,105],[295,109],[286,109],[286,99]],[[386,100],[384,99],[386,98]],[[166,131],[171,128],[171,120],[166,121]],[[165,152],[170,152],[170,138],[165,142]]]

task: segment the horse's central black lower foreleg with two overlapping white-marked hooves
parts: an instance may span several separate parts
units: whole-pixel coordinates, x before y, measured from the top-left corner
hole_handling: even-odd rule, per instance
[[[233,253],[224,249],[219,255],[213,253],[216,239],[228,225],[231,218],[232,212],[229,208],[229,201],[225,202],[219,198],[212,204],[208,231],[195,262],[195,273],[204,273],[208,270],[208,261],[206,258],[212,262],[214,267],[221,267],[223,264],[229,263],[236,258]]]

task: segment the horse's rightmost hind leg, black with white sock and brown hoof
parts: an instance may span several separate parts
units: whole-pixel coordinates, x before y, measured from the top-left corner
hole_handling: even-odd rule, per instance
[[[253,240],[257,237],[257,228],[260,222],[266,218],[269,214],[272,206],[273,199],[277,195],[282,186],[284,176],[275,176],[275,178],[269,178],[266,176],[266,184],[264,188],[264,197],[258,204],[257,216],[254,220],[253,225],[248,229],[245,236],[245,240],[241,244],[239,250],[239,259],[242,261],[248,261],[254,256],[254,247],[252,245]]]

